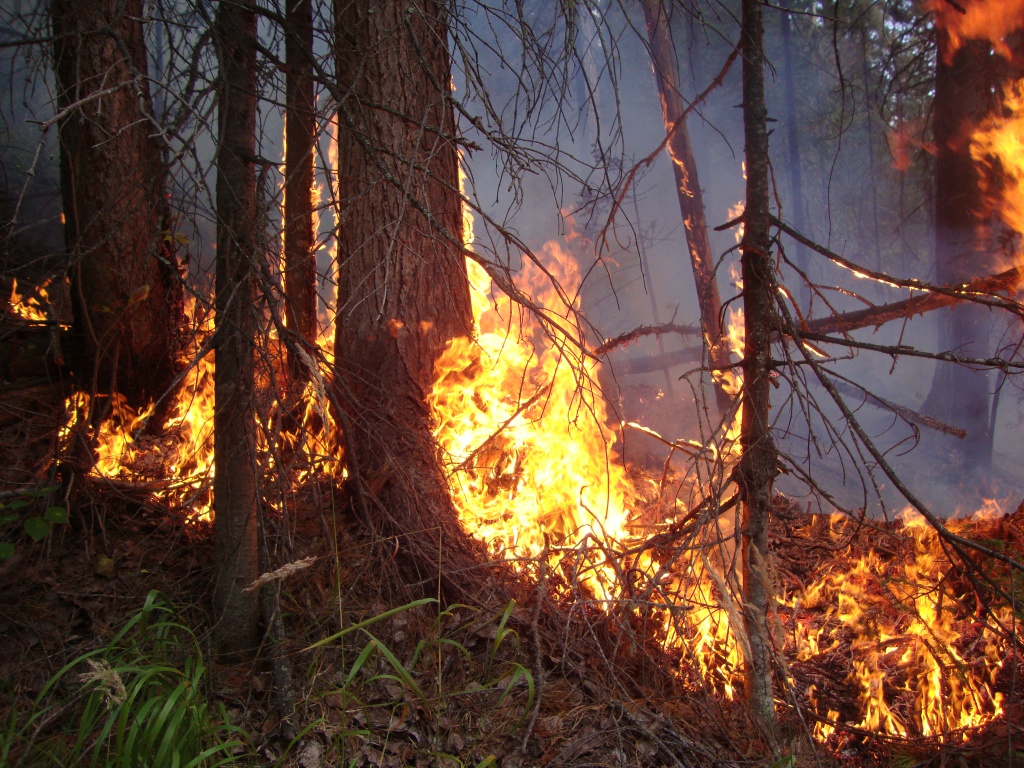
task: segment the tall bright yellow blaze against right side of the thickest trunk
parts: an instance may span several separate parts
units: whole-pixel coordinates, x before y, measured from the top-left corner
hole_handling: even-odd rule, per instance
[[[472,226],[467,206],[467,248]],[[556,242],[541,256],[563,295],[578,297],[572,258]],[[516,285],[543,307],[541,321],[493,291],[476,261],[467,259],[467,272],[476,335],[449,344],[428,396],[464,526],[513,557],[622,537],[631,487],[593,364],[581,354],[578,298],[566,306],[526,260]],[[587,577],[592,587],[607,587],[603,567]]]

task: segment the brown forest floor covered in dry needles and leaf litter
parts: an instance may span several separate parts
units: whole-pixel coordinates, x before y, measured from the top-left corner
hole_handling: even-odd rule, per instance
[[[594,606],[543,603],[564,614],[563,634],[550,636],[539,629],[536,585],[523,585],[517,605],[489,607],[442,606],[396,586],[388,543],[358,532],[344,486],[328,480],[298,489],[289,515],[268,521],[264,531],[273,562],[303,564],[275,582],[283,637],[253,658],[220,664],[211,651],[212,526],[186,520],[144,493],[74,476],[56,456],[62,409],[62,393],[45,381],[0,388],[0,501],[9,508],[11,500],[26,500],[28,506],[14,510],[22,514],[33,505],[70,511],[68,523],[53,524],[38,543],[10,522],[3,529],[3,539],[15,539],[13,555],[0,561],[0,737],[13,748],[11,765],[22,758],[25,765],[46,764],[26,752],[30,740],[38,748],[68,739],[75,711],[61,701],[80,698],[79,668],[40,701],[60,717],[37,721],[31,739],[18,728],[47,681],[73,659],[109,647],[154,591],[198,639],[191,650],[165,660],[180,665],[189,653],[202,654],[206,697],[246,734],[237,749],[243,765],[1024,764],[1015,702],[1024,667],[1013,644],[995,682],[1007,693],[1009,714],[967,740],[895,739],[840,728],[812,745],[809,724],[791,714],[774,757],[739,703],[694,687],[692,676],[684,685],[685,676],[672,671],[678,654],[628,637]],[[32,496],[30,488],[42,492]],[[886,531],[878,526],[851,527],[837,541],[824,518],[780,504],[772,541],[784,584],[806,583],[861,549],[879,549],[880,542],[893,560],[902,556],[895,538],[886,550]],[[1018,512],[974,532],[1020,555],[1022,526]],[[967,574],[946,581],[957,579]],[[881,598],[872,605],[880,614],[894,609]],[[806,610],[780,610],[779,621],[783,627],[835,622],[808,617]],[[822,711],[848,719],[858,692],[847,656],[857,639],[842,628],[836,633],[844,644],[795,663],[791,673],[802,691],[816,683]],[[972,637],[958,642],[967,647]],[[879,664],[898,687],[902,681],[886,670],[886,658],[895,655]],[[291,674],[290,695],[281,692],[283,670]]]

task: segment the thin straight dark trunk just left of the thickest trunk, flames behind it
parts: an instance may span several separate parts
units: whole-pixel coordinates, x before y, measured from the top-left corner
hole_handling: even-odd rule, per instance
[[[316,344],[316,253],[313,250],[313,147],[316,116],[313,96],[312,0],[288,0],[286,8],[285,83],[285,311],[291,337],[288,370],[293,394],[299,394],[309,371],[295,345]]]

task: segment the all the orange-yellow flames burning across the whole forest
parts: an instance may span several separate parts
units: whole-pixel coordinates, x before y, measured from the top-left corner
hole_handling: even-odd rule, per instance
[[[1006,108],[1019,114],[1022,104],[1018,86]],[[999,118],[981,126],[972,142],[977,162],[1001,169],[1005,183],[991,191],[999,194],[1001,215],[1016,231],[1024,228],[1024,204],[1015,197],[1024,179],[1020,136],[1013,119]],[[317,199],[323,194],[323,187],[314,191]],[[337,197],[333,189],[331,197]],[[467,212],[470,242],[471,229]],[[623,466],[617,425],[580,316],[573,256],[552,241],[538,257],[543,267],[524,258],[516,286],[542,308],[540,315],[496,290],[483,267],[467,260],[476,333],[451,342],[436,361],[428,404],[462,523],[496,555],[526,563],[547,558],[566,585],[563,597],[580,594],[582,586],[609,611],[622,601],[637,605],[638,614],[657,616],[656,639],[679,659],[681,678],[734,698],[749,652],[734,500],[687,508],[678,494],[666,494],[665,477],[651,492],[657,483]],[[736,274],[733,280],[738,283]],[[44,289],[37,291],[43,300]],[[19,316],[46,317],[16,284],[10,305]],[[85,430],[96,475],[148,482],[157,498],[208,518],[215,468],[214,359],[207,342],[214,317],[195,300],[187,313],[193,348],[162,436],[140,436],[153,408],[136,414],[117,397],[105,403],[108,418],[90,427],[96,404],[79,394],[68,401],[61,439],[68,444]],[[730,308],[728,318],[727,343],[738,358],[742,309]],[[319,345],[330,362],[334,313],[325,319]],[[716,377],[730,395],[740,392],[738,370]],[[264,471],[273,470],[286,450],[310,460],[295,483],[317,471],[334,474],[339,464],[323,377],[310,378],[298,402],[294,426],[278,428],[283,420],[271,416],[259,431]],[[698,446],[717,464],[716,477],[730,474],[739,418],[737,403],[721,431]],[[162,477],[171,480],[159,482]],[[729,481],[713,488],[707,478],[675,479],[706,499],[724,499],[729,487]],[[967,738],[1004,715],[999,676],[1013,612],[971,593],[970,580],[924,518],[905,512],[890,524],[779,511],[785,530],[772,538],[780,574],[772,585],[774,650],[780,676],[814,716],[816,737],[828,740],[846,730]],[[676,537],[671,547],[651,544],[678,534],[680,521],[690,523],[686,538]],[[986,524],[979,514],[950,527],[974,536]],[[813,562],[807,546],[821,553]]]

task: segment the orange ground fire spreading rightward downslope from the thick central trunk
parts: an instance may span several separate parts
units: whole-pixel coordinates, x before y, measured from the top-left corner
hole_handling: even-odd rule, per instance
[[[571,258],[556,244],[543,255],[559,285],[575,296]],[[638,524],[651,500],[613,458],[616,435],[596,396],[593,369],[575,347],[584,334],[572,309],[527,263],[520,287],[573,334],[546,336],[535,317],[493,296],[481,267],[468,261],[468,268],[479,335],[449,347],[430,396],[464,525],[497,554],[527,560],[546,554],[553,566],[574,569],[563,571],[566,581],[579,578],[601,600],[629,599],[621,580],[631,570],[634,585],[651,585],[645,594],[663,610],[667,646],[682,649],[684,666],[694,664],[703,684],[733,698],[745,644],[735,522],[730,515],[706,519],[685,552],[654,556],[641,549],[628,568],[611,563],[610,553],[635,548],[643,536],[671,527],[672,519],[653,528]],[[730,316],[729,338],[740,355],[740,312]],[[735,393],[741,379],[725,373]],[[734,416],[725,425],[722,447],[707,446],[709,456],[734,459],[738,423]],[[675,504],[672,518],[683,517],[686,510]],[[860,523],[843,515],[810,515],[803,524],[817,546],[843,553],[777,586],[776,647],[791,659],[791,685],[804,691],[818,717],[817,737],[827,739],[837,726],[894,737],[966,737],[999,717],[995,684],[1012,616],[1000,609],[986,623],[965,607],[968,597],[953,586],[961,582],[951,561],[924,518],[906,512],[896,528],[887,526],[896,548],[888,553],[863,542],[854,546]],[[779,537],[778,546],[790,539]],[[567,551],[569,565],[562,559]],[[800,567],[804,553],[794,555],[783,570]],[[834,709],[841,707],[835,692],[809,682],[815,679],[809,670],[822,664],[854,699],[842,716]]]

